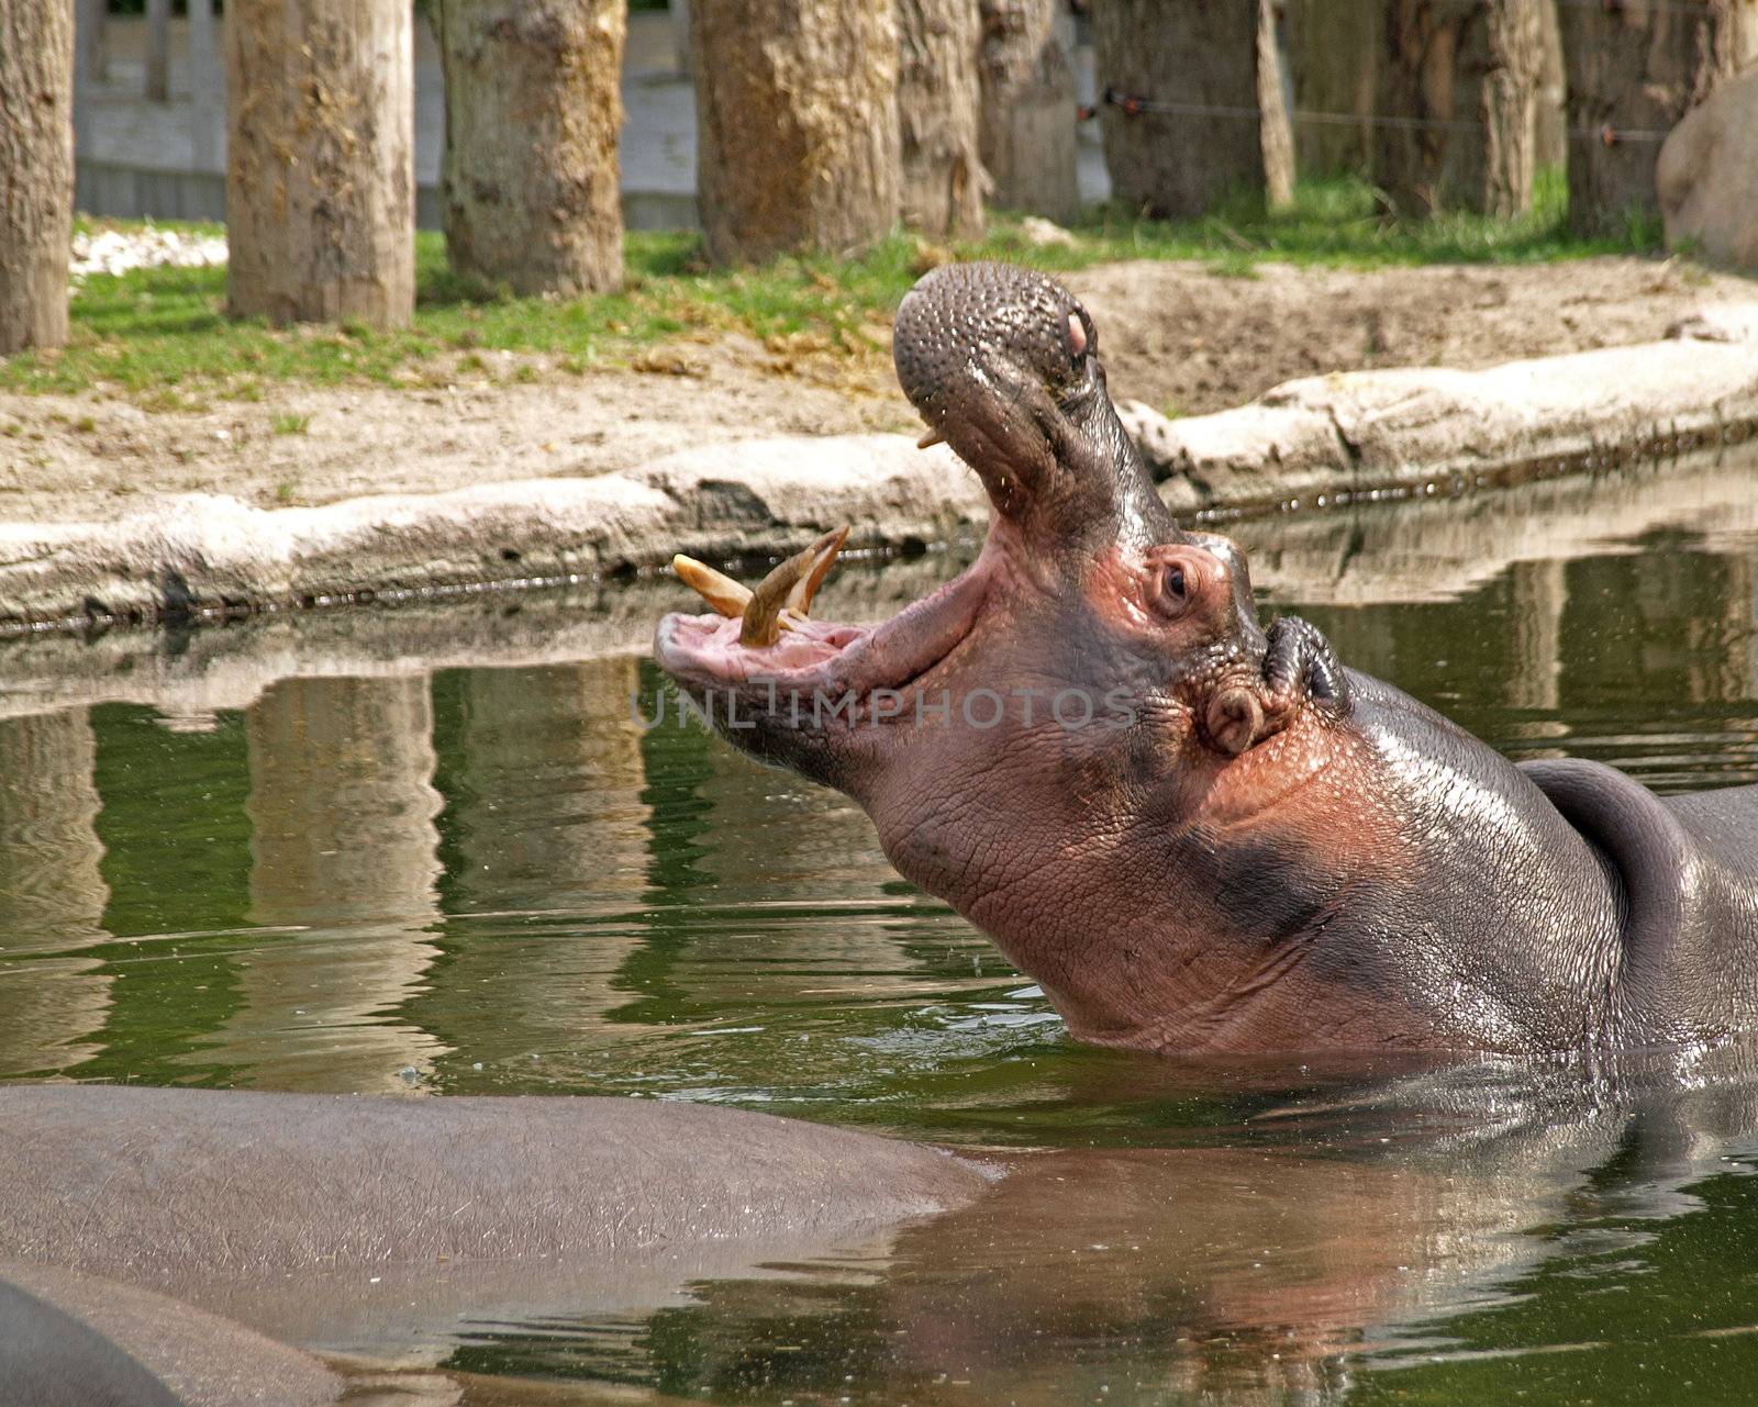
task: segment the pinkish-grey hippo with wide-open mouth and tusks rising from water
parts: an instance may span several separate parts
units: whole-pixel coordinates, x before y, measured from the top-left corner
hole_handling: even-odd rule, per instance
[[[756,757],[853,796],[904,875],[1090,1042],[1551,1052],[1758,1024],[1758,787],[1660,799],[1514,766],[1183,532],[1086,311],[953,265],[895,358],[993,508],[976,564],[874,627],[812,620],[840,545],[670,615],[661,666]]]

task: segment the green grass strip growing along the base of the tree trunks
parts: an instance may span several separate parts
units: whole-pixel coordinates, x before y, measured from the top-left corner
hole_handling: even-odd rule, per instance
[[[455,372],[494,374],[483,353],[541,353],[568,374],[626,365],[680,334],[740,330],[805,339],[807,350],[870,353],[898,299],[928,263],[1006,258],[1051,271],[1123,258],[1206,262],[1218,276],[1252,278],[1262,260],[1341,267],[1533,263],[1600,253],[1647,253],[1656,230],[1580,241],[1565,225],[1559,172],[1540,179],[1531,214],[1512,221],[1391,216],[1362,181],[1303,184],[1294,207],[1266,214],[1227,202],[1192,221],[1141,220],[1099,209],[1074,244],[1037,246],[1016,218],[997,216],[977,242],[935,248],[907,234],[860,258],[782,258],[758,269],[707,269],[689,234],[633,232],[626,288],[573,300],[517,299],[457,278],[438,234],[417,235],[417,311],[404,332],[359,325],[276,330],[225,316],[223,269],[141,269],[90,278],[72,302],[69,346],[0,360],[0,388],[81,392],[102,386],[148,408],[251,400],[271,381],[422,385]],[[508,376],[531,379],[529,364]]]

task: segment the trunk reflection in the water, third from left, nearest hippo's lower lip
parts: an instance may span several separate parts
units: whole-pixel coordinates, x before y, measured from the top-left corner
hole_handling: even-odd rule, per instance
[[[434,682],[452,917],[445,982],[410,1015],[469,1054],[462,1086],[589,1042],[629,999],[617,975],[645,931],[652,820],[635,687],[628,657]]]

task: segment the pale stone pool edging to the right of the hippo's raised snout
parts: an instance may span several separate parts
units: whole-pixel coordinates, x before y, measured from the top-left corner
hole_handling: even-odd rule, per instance
[[[1318,495],[1410,492],[1663,458],[1758,432],[1758,341],[1718,318],[1714,341],[1289,381],[1220,415],[1123,423],[1176,511],[1299,508]],[[1691,325],[1686,325],[1691,328]]]

